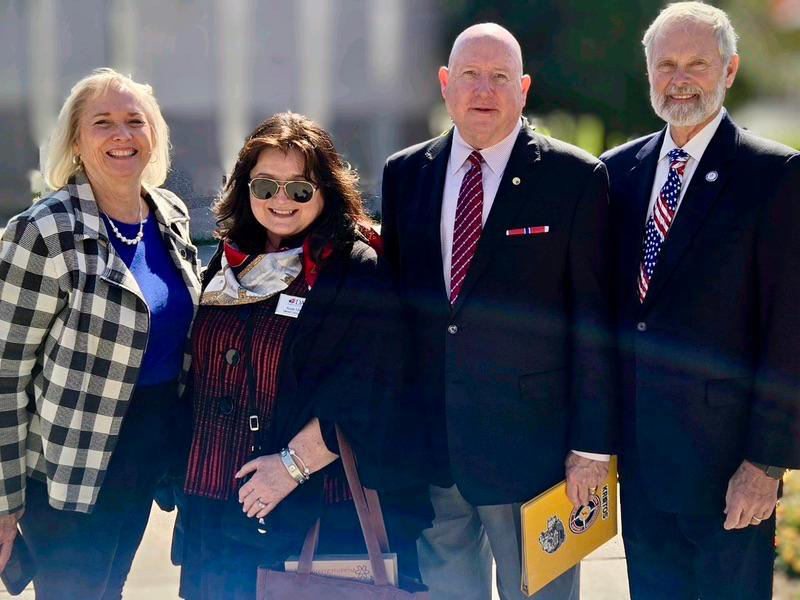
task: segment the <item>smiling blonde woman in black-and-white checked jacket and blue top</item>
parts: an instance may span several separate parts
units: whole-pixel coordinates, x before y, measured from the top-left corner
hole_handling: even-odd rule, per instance
[[[200,284],[168,169],[150,86],[98,69],[0,241],[0,569],[19,526],[37,599],[121,598],[169,459]]]

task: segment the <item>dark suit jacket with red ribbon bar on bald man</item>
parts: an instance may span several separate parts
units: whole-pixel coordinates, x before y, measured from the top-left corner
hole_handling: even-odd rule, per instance
[[[413,336],[427,465],[472,504],[527,500],[564,477],[569,449],[607,453],[607,175],[597,159],[520,131],[458,301],[442,274],[440,217],[452,131],[390,157],[382,235]],[[540,235],[506,230],[549,226]]]

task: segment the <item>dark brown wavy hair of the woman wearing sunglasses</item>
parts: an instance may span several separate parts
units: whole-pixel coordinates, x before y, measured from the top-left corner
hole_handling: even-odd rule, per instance
[[[299,152],[303,157],[303,176],[322,193],[322,213],[299,236],[309,237],[316,262],[321,262],[326,246],[340,250],[363,237],[359,225],[371,225],[371,221],[364,212],[358,174],[336,152],[327,131],[308,117],[292,112],[272,115],[245,140],[222,196],[214,204],[217,237],[235,242],[249,254],[264,252],[267,232],[250,208],[248,184],[250,171],[265,148]]]

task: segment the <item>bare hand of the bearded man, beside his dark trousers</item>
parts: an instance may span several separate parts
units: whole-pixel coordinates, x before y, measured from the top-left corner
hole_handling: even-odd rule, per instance
[[[725,529],[744,529],[768,519],[778,501],[778,480],[746,460],[728,482]]]

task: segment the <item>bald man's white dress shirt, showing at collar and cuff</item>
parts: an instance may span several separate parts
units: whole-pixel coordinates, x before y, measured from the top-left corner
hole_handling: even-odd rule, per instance
[[[481,216],[481,226],[486,225],[489,218],[489,211],[492,210],[497,189],[503,179],[508,159],[511,151],[519,136],[522,128],[522,119],[517,122],[516,127],[502,140],[494,146],[483,148],[479,152],[483,157],[481,163],[481,176],[483,177],[483,214]],[[450,297],[450,269],[453,260],[453,228],[456,221],[456,205],[458,204],[458,192],[461,189],[461,181],[464,179],[470,168],[467,160],[469,155],[475,150],[470,146],[458,127],[453,128],[453,144],[450,148],[450,159],[447,162],[447,173],[444,180],[444,192],[442,195],[442,216],[439,222],[439,230],[442,240],[442,267],[444,270],[444,285],[447,290],[447,297]],[[665,177],[666,178],[666,177]],[[592,452],[573,452],[584,458],[593,460],[609,460],[608,454],[594,454]]]

